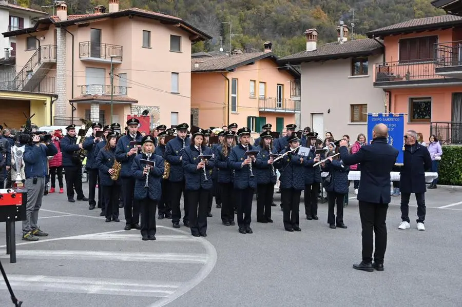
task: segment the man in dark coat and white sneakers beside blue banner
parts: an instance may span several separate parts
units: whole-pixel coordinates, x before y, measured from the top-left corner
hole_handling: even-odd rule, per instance
[[[417,200],[417,229],[425,230],[425,171],[431,169],[432,159],[427,147],[417,143],[417,132],[408,130],[405,135],[404,165],[401,169],[399,189],[401,192],[401,219],[398,229],[408,229],[409,198],[415,193]]]

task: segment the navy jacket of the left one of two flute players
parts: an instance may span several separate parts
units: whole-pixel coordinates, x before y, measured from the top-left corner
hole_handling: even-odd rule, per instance
[[[281,154],[287,152],[287,150],[288,149],[283,150]],[[295,189],[300,191],[305,189],[306,167],[304,164],[306,160],[303,158],[303,162],[301,162],[301,157],[302,156],[297,154],[288,154],[274,163],[275,168],[279,169],[281,173],[279,177],[279,180],[281,180],[279,187],[281,189]]]

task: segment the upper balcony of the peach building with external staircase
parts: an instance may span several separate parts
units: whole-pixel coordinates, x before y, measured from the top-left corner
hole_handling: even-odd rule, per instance
[[[82,42],[79,46],[80,59],[97,63],[122,63],[122,46]]]

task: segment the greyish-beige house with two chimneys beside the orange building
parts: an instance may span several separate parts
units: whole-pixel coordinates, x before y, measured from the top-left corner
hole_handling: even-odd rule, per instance
[[[367,113],[385,111],[386,92],[374,88],[373,67],[383,62],[383,46],[374,39],[349,40],[338,27],[336,43],[317,46],[316,29],[305,31],[306,51],[280,59],[301,65],[301,126],[324,138],[367,134]],[[340,35],[341,32],[341,35]]]

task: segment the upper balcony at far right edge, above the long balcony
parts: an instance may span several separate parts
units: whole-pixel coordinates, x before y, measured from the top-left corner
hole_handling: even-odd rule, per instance
[[[462,79],[462,40],[435,44],[435,55],[436,74]]]

